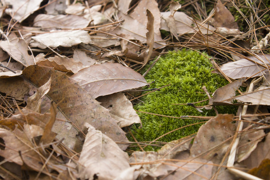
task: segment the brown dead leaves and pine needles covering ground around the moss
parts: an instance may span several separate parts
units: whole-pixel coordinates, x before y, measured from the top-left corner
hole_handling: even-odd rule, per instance
[[[4,0],[0,177],[269,179],[269,35],[256,32],[269,29],[249,1],[249,26],[238,27],[238,3]],[[143,125],[130,99],[148,83],[136,70],[182,47],[214,56],[214,72],[230,82],[204,108],[238,105],[239,113],[197,117],[209,120],[196,134],[144,151],[161,142],[126,138],[130,125]]]

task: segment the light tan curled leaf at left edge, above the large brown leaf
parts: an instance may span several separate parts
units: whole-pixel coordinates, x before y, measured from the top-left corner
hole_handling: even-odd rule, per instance
[[[0,47],[24,66],[35,63],[33,56],[28,54],[26,42],[18,38],[14,33],[8,36],[8,40],[0,40]]]

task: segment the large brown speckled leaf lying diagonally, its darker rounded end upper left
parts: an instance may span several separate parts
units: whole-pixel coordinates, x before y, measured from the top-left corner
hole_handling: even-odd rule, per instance
[[[82,129],[83,123],[89,122],[113,140],[127,141],[125,132],[116,124],[115,119],[109,115],[108,110],[102,107],[99,102],[94,100],[65,73],[56,71],[51,67],[32,65],[23,70],[23,76],[38,87],[51,77],[53,83],[51,83],[47,95],[67,117],[67,121],[62,123],[68,124],[69,129],[71,127]],[[63,131],[61,128],[58,130]],[[64,131],[69,133],[68,129]],[[54,130],[54,132],[57,131]],[[75,137],[76,134],[73,135]],[[124,146],[126,147],[126,145],[123,145],[123,148]]]

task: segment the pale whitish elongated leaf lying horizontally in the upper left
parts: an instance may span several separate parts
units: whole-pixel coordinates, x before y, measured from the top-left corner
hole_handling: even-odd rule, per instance
[[[71,47],[79,43],[91,42],[90,35],[85,30],[51,31],[33,36],[32,39],[49,47]]]

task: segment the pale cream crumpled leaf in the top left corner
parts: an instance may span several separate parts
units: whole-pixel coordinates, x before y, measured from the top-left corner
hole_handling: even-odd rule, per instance
[[[31,13],[39,8],[42,0],[4,0],[5,3],[11,4],[12,8],[6,9],[13,19],[21,22],[27,18]]]

